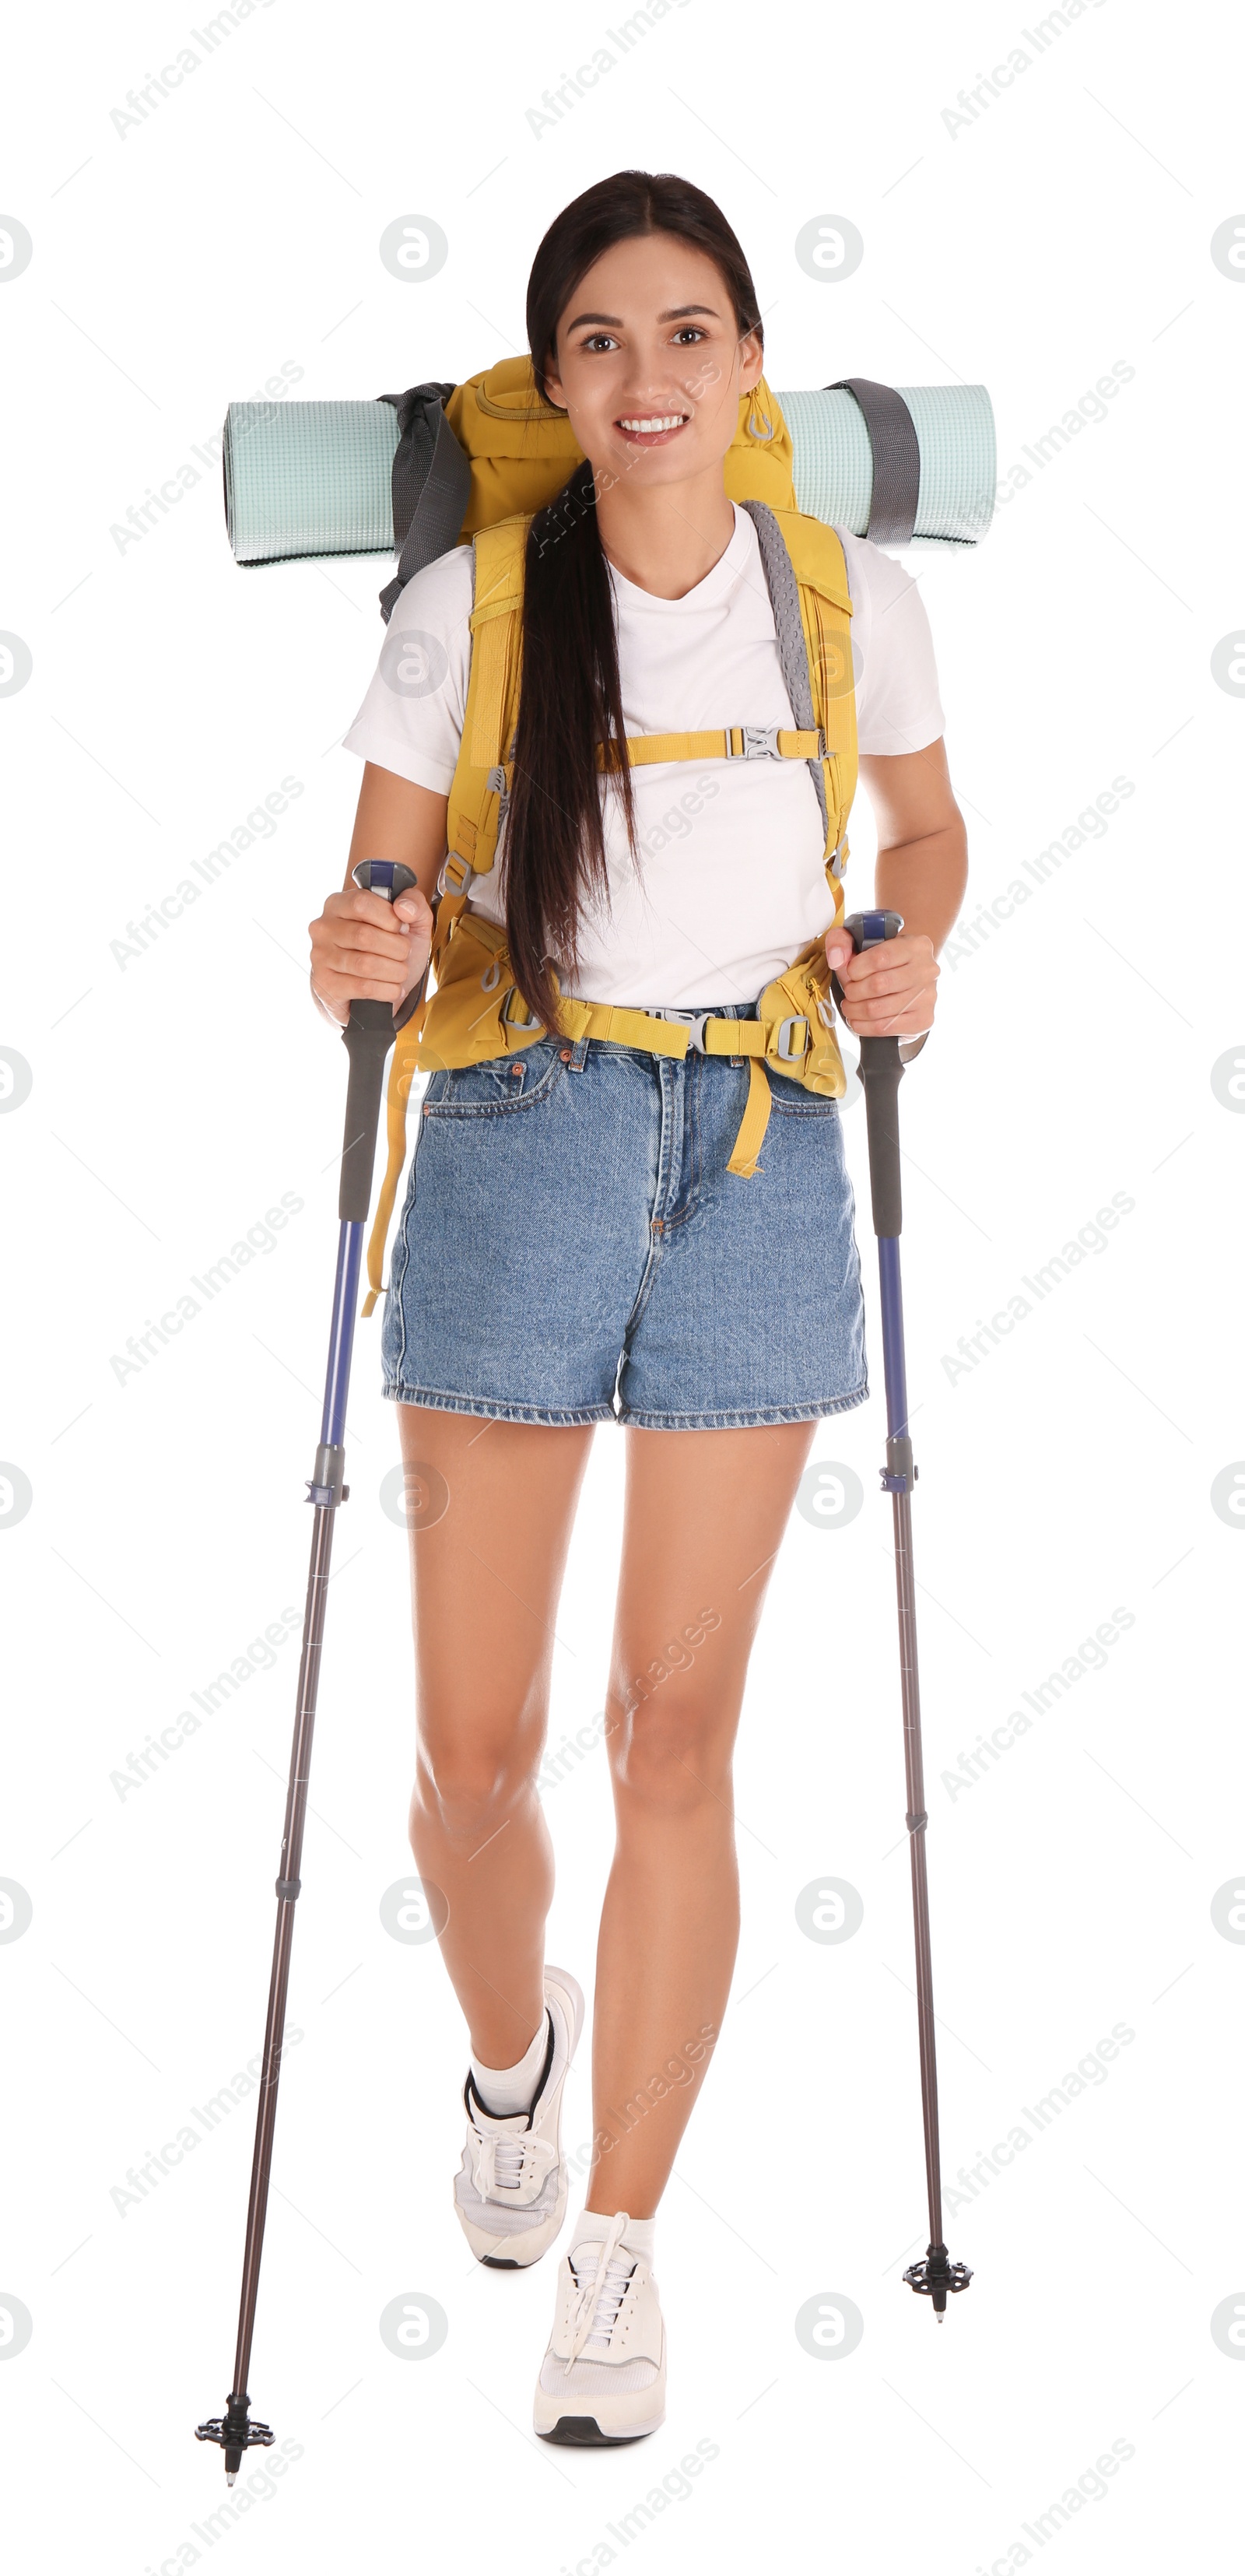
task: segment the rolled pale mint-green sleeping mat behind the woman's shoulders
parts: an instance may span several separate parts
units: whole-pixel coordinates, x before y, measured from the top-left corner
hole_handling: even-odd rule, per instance
[[[964,549],[995,510],[985,384],[884,386],[864,376],[776,397],[796,505],[892,546]],[[379,402],[232,402],[224,518],[240,564],[392,554],[397,410]]]

